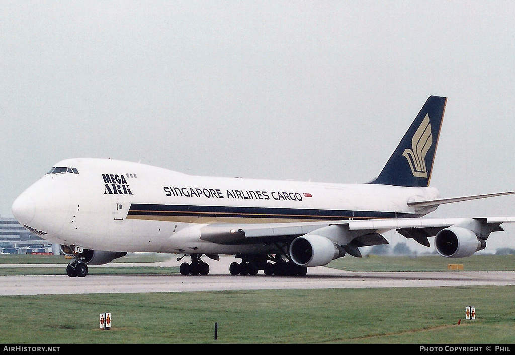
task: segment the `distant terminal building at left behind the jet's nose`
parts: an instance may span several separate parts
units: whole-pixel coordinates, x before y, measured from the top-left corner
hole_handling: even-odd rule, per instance
[[[30,233],[16,219],[0,217],[0,253],[27,254],[37,252],[53,252],[52,243]]]

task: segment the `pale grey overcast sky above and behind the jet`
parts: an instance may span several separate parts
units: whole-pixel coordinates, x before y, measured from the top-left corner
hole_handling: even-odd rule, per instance
[[[499,0],[3,0],[0,215],[70,157],[368,182],[432,94],[431,185],[515,190],[514,18]],[[511,216],[515,197],[432,215]]]

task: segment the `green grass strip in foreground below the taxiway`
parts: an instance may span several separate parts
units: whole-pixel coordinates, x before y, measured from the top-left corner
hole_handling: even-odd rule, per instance
[[[2,296],[0,343],[513,344],[514,293],[474,286]],[[467,305],[476,320],[464,319]],[[103,312],[112,315],[110,331],[99,330]]]

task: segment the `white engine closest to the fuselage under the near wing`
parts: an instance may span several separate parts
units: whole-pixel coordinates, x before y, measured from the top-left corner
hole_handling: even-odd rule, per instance
[[[315,234],[295,238],[289,252],[291,260],[300,266],[327,265],[345,254],[329,238]]]

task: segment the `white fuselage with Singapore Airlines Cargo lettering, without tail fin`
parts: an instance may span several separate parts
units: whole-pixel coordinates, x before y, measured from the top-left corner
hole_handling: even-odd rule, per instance
[[[66,159],[13,204],[26,228],[54,243],[107,251],[233,254],[262,245],[199,239],[209,223],[421,216],[409,200],[434,188],[205,177],[113,159]],[[66,169],[65,169],[66,170]]]

